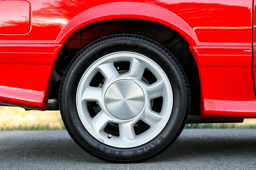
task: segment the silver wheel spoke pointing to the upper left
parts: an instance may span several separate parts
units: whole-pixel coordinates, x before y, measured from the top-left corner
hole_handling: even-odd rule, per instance
[[[100,64],[97,68],[105,79],[107,79],[105,82],[119,75],[113,63]]]

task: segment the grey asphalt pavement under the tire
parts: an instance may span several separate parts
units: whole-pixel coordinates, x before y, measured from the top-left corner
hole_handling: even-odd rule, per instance
[[[109,163],[66,131],[0,131],[0,169],[256,169],[256,129],[185,129],[153,159]]]

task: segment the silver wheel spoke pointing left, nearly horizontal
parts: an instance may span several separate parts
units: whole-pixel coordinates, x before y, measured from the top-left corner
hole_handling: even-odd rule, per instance
[[[82,95],[82,100],[102,102],[101,88],[89,86]]]

